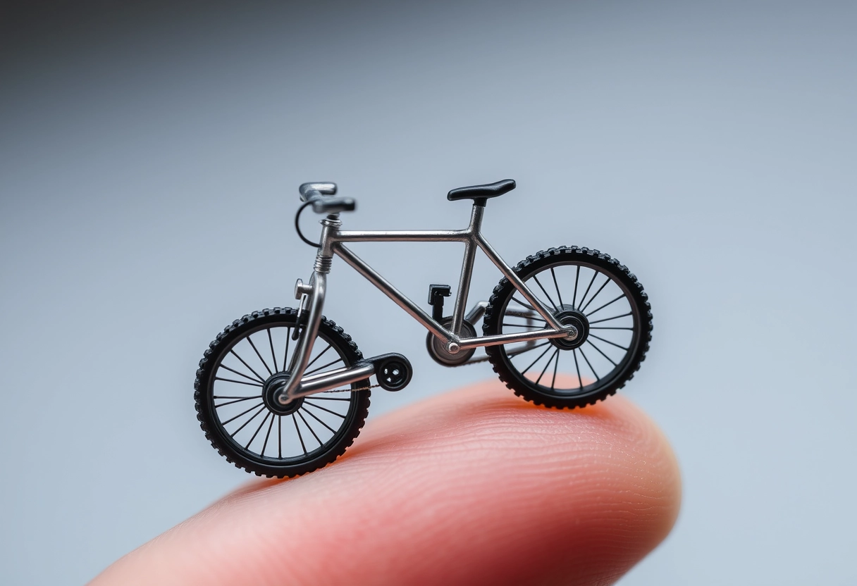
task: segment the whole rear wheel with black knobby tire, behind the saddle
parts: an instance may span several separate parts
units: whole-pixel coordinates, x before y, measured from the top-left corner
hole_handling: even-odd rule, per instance
[[[552,309],[554,316],[558,319],[561,316],[566,320],[564,323],[573,323],[581,332],[575,341],[539,340],[486,347],[494,372],[516,395],[547,407],[573,409],[607,398],[633,378],[649,350],[652,323],[648,296],[626,266],[597,250],[560,247],[527,257],[514,271]],[[579,297],[583,290],[585,295]],[[603,293],[605,290],[607,294]],[[615,293],[619,296],[614,297]],[[600,300],[595,302],[599,296]],[[547,327],[541,317],[537,320],[519,317],[522,312],[534,314],[528,305],[522,308],[525,303],[521,299],[508,279],[502,278],[485,311],[484,334],[521,333]],[[602,302],[607,303],[602,305]],[[536,361],[530,363],[530,358],[536,356]],[[563,371],[572,374],[562,377]]]

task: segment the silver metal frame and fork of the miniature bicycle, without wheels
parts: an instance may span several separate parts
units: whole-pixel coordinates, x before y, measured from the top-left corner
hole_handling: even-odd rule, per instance
[[[321,392],[335,386],[363,380],[369,374],[372,374],[367,374],[368,370],[365,366],[360,368],[339,368],[326,373],[324,380],[316,380],[319,377],[308,377],[306,380],[302,380],[303,372],[307,368],[307,362],[309,362],[309,355],[313,350],[315,338],[318,335],[318,328],[321,323],[321,308],[324,304],[327,289],[327,272],[330,272],[334,254],[354,267],[369,283],[375,285],[377,289],[390,297],[400,308],[405,309],[405,312],[420,322],[428,332],[440,338],[450,354],[457,354],[462,350],[470,350],[480,346],[531,342],[544,338],[575,338],[577,331],[572,326],[562,326],[555,320],[551,310],[545,307],[532,294],[526,284],[518,278],[518,275],[512,268],[500,258],[500,254],[497,254],[485,237],[482,236],[482,217],[484,212],[484,205],[480,206],[478,203],[475,203],[470,213],[470,225],[464,230],[339,230],[339,227],[342,225],[339,218],[328,216],[323,219],[321,221],[321,247],[315,258],[313,276],[310,278],[309,284],[303,284],[298,279],[295,286],[295,296],[297,299],[301,299],[302,310],[304,301],[306,301],[308,316],[306,326],[303,327],[303,334],[301,335],[298,349],[292,356],[290,364],[292,376],[285,386],[283,396],[288,397],[288,400],[291,401],[294,398]],[[376,272],[375,269],[358,257],[357,254],[354,254],[350,248],[345,247],[345,243],[351,242],[463,242],[464,260],[462,261],[461,275],[458,278],[458,291],[452,310],[452,324],[450,328],[446,329],[437,320],[434,320],[423,308],[396,289],[380,273]],[[509,279],[514,288],[535,309],[536,313],[542,316],[548,328],[524,333],[497,334],[474,338],[460,337],[461,326],[465,319],[464,309],[470,293],[470,278],[473,272],[473,262],[476,259],[476,248],[481,249],[482,253],[488,257],[488,260],[491,260],[494,266]],[[477,305],[473,308],[469,316],[479,315],[479,307]],[[482,310],[483,307],[482,305]],[[306,388],[302,389],[301,387],[303,386]]]

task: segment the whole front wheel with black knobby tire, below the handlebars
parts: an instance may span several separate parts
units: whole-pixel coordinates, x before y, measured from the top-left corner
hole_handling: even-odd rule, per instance
[[[209,344],[196,371],[197,419],[207,439],[231,463],[256,475],[283,478],[326,466],[353,443],[369,414],[369,391],[351,391],[369,387],[369,379],[341,392],[300,399],[299,405],[287,409],[291,413],[271,400],[271,387],[289,376],[286,366],[297,348],[291,341],[296,325],[297,311],[292,308],[244,315]],[[351,366],[362,358],[351,337],[322,318],[305,374]],[[240,415],[249,404],[255,406]],[[239,416],[233,419],[236,412]],[[238,425],[242,428],[236,432]]]

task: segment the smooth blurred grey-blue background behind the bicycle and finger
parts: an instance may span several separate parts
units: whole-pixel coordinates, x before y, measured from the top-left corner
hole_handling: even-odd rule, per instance
[[[446,191],[506,177],[506,260],[599,248],[650,295],[622,392],[685,499],[622,586],[857,583],[857,4],[3,6],[0,583],[83,583],[249,480],[194,374],[309,278],[299,183],[356,198],[347,228],[457,228]],[[457,283],[456,245],[355,249],[417,301]],[[471,301],[499,278],[477,257]],[[341,260],[329,286],[365,354],[416,370],[369,422],[492,377],[432,362]]]

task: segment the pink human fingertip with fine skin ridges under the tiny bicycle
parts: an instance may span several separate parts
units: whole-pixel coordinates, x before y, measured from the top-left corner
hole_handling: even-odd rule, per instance
[[[92,584],[611,584],[679,504],[625,398],[548,410],[494,380],[370,421],[336,463],[255,481]]]

